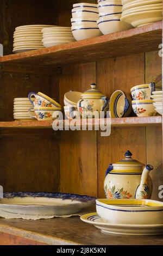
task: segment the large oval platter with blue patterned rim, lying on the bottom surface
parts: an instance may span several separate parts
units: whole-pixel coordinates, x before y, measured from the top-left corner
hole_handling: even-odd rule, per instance
[[[65,193],[4,193],[0,200],[0,216],[39,220],[73,215],[95,204],[95,198]]]

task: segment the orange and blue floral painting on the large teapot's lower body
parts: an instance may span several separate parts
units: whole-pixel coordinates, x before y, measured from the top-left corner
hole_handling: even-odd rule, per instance
[[[123,190],[123,188],[117,188],[115,186],[113,187],[107,187],[105,186],[105,195],[109,199],[130,199],[133,196],[126,190]]]

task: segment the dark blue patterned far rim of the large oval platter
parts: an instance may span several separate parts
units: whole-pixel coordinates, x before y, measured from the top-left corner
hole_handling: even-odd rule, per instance
[[[95,202],[97,198],[89,196],[80,196],[79,194],[67,194],[67,193],[49,193],[49,192],[5,192],[4,198],[15,198],[15,197],[46,197],[46,198],[60,198],[63,200],[78,200],[83,203]]]

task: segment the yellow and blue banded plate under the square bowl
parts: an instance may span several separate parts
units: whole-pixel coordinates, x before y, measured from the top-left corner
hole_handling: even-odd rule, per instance
[[[117,235],[161,235],[163,234],[163,224],[159,225],[127,225],[104,223],[98,214],[86,214],[80,217],[83,222],[94,225],[104,233]]]

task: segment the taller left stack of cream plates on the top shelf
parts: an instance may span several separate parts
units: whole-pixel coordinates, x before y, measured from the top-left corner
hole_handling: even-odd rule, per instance
[[[26,52],[43,48],[42,28],[50,25],[28,25],[15,28],[13,52]]]

